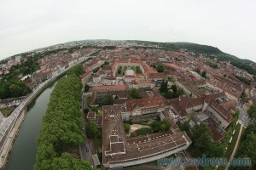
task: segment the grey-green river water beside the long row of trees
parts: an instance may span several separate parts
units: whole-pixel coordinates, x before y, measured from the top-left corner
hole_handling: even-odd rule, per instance
[[[44,89],[32,104],[27,108],[26,119],[21,124],[20,132],[11,150],[8,170],[32,170],[36,161],[36,138],[40,131],[43,116],[49,103],[49,97],[56,82]]]

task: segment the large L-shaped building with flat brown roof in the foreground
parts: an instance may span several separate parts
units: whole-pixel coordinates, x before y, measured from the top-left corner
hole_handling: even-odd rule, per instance
[[[191,140],[184,132],[154,133],[127,139],[121,105],[103,106],[102,164],[104,167],[129,167],[186,150]]]

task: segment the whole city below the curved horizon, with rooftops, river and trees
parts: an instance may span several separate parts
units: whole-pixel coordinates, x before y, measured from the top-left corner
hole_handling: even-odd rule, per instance
[[[0,82],[1,168],[255,167],[256,65],[218,48],[66,42],[3,59]]]

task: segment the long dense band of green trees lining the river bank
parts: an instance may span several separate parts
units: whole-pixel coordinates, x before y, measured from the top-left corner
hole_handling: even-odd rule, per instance
[[[35,169],[90,169],[90,163],[79,161],[66,150],[84,142],[80,98],[82,82],[77,65],[57,82],[50,95],[43,125],[38,135],[38,153]]]

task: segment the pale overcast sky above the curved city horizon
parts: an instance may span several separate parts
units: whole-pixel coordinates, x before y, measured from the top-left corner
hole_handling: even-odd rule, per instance
[[[196,42],[256,61],[256,1],[0,0],[0,59],[102,38]]]

